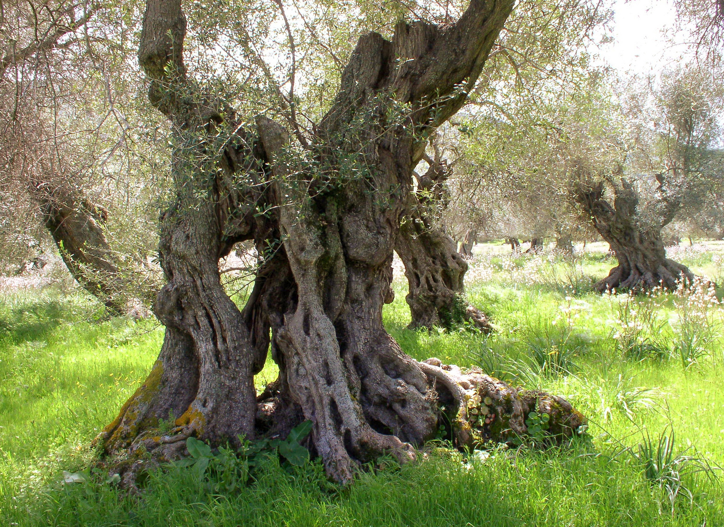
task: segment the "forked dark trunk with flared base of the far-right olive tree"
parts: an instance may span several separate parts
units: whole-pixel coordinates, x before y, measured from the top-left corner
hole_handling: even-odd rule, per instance
[[[602,182],[578,187],[576,193],[584,214],[618,259],[618,266],[595,289],[675,289],[682,277],[694,279],[686,266],[666,258],[661,229],[673,219],[675,204],[659,201],[648,210],[639,210],[639,197],[625,178],[614,185],[614,191],[613,206],[603,197]]]

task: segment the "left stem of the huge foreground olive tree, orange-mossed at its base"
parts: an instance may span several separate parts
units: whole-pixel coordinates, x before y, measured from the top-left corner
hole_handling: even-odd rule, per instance
[[[186,80],[184,34],[180,2],[148,2],[139,61],[150,80],[149,99],[171,119],[181,147],[172,150],[176,197],[161,218],[159,259],[167,284],[153,306],[166,326],[164,345],[146,382],[96,439],[106,455],[121,460],[117,471],[129,486],[143,467],[137,452],[151,452],[157,462],[182,455],[191,435],[211,442],[253,437],[257,410],[253,374],[261,366],[245,317],[222,287],[219,259],[253,237],[258,195],[251,183],[261,173],[263,152],[240,133],[225,143],[223,156],[209,161],[222,111]],[[250,185],[235,185],[234,172],[250,174]],[[159,432],[161,419],[173,421],[167,434]]]

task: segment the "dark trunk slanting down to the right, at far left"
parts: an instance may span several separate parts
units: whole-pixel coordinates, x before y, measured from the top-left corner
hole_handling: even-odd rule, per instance
[[[114,314],[125,313],[128,291],[106,240],[107,212],[77,190],[33,189],[43,222],[72,277]]]

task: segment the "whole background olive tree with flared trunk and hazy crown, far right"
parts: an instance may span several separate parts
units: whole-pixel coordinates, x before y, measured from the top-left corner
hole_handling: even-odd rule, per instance
[[[645,97],[636,94],[620,112],[628,117],[628,132],[591,145],[599,159],[603,150],[612,153],[606,168],[571,156],[573,198],[618,259],[597,290],[675,289],[681,279],[694,278],[686,266],[666,258],[662,229],[677,216],[693,216],[717,179],[718,156],[711,148],[721,105],[716,77],[696,68],[665,73],[654,93],[655,130],[631,117],[647,115]]]

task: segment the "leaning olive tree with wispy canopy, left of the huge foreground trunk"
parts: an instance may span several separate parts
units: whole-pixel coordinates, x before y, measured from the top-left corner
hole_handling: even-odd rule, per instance
[[[48,250],[50,235],[113,313],[157,287],[148,258],[165,133],[138,104],[138,9],[22,1],[0,20],[4,267]]]

